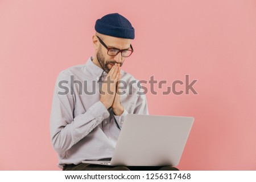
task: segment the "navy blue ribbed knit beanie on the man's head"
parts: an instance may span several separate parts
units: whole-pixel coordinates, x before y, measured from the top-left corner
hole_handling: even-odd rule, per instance
[[[134,39],[134,28],[129,20],[118,13],[108,14],[98,19],[95,24],[98,33],[124,39]]]

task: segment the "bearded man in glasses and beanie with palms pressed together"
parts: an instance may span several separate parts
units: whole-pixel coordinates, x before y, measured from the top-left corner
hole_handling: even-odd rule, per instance
[[[148,114],[146,96],[138,94],[142,92],[139,82],[121,70],[125,58],[133,53],[131,23],[117,13],[108,14],[96,21],[95,29],[94,56],[84,65],[61,71],[57,77],[51,140],[59,156],[59,167],[63,170],[141,170],[81,163],[111,158],[125,116]],[[127,83],[125,94],[119,90],[121,81]]]

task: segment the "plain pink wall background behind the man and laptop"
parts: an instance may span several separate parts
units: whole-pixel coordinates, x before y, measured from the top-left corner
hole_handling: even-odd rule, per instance
[[[0,170],[59,170],[53,86],[93,55],[94,23],[111,12],[135,27],[124,70],[198,79],[199,95],[147,94],[152,115],[195,117],[180,170],[256,170],[256,1],[242,0],[0,1]]]

